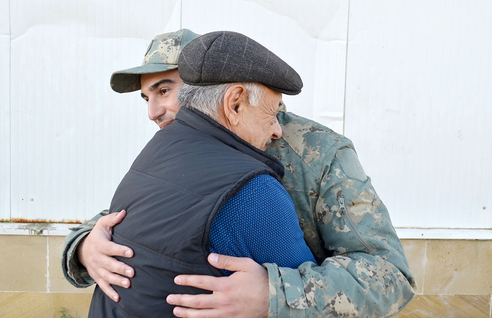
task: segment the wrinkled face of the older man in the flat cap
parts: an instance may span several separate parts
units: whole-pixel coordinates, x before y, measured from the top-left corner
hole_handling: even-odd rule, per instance
[[[282,136],[282,128],[277,120],[282,94],[266,86],[263,88],[265,93],[259,105],[247,107],[235,132],[254,147],[265,151],[272,139]]]

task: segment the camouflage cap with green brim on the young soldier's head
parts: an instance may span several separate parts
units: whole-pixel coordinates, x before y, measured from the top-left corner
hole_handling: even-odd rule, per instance
[[[145,52],[142,65],[114,72],[111,75],[111,88],[118,93],[138,91],[140,74],[159,73],[178,68],[181,50],[198,36],[200,35],[188,29],[155,36]]]

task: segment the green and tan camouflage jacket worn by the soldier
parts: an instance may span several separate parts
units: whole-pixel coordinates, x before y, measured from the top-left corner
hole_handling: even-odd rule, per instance
[[[267,152],[285,166],[307,245],[317,262],[297,269],[263,264],[270,283],[269,318],[390,317],[416,291],[388,211],[371,186],[352,142],[333,130],[280,112],[282,138]],[[75,249],[107,211],[72,228],[62,267],[74,286],[93,284]]]

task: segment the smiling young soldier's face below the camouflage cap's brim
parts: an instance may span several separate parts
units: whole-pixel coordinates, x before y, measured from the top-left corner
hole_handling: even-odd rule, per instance
[[[177,69],[140,76],[142,98],[149,104],[149,119],[160,128],[169,125],[180,110],[178,90],[183,80]]]

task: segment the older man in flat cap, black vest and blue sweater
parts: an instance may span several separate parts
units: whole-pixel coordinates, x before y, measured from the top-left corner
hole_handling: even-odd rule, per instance
[[[176,275],[221,276],[210,252],[293,268],[315,263],[278,181],[283,166],[262,151],[282,135],[281,93],[299,94],[301,78],[235,32],[205,34],[182,58],[184,82],[200,86],[180,88],[184,109],[135,159],[111,203],[110,211],[127,210],[113,240],[135,251],[128,263],[136,275],[131,288],[117,287],[120,302],[96,287],[90,317],[172,317],[169,294],[205,292],[176,286]],[[142,91],[153,82],[142,77]]]

